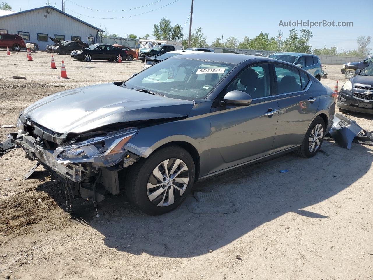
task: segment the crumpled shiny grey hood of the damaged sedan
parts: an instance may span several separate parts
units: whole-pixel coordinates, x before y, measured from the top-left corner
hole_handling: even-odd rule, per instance
[[[108,124],[185,117],[189,100],[143,93],[113,83],[62,91],[24,110],[31,121],[57,133],[82,133]]]

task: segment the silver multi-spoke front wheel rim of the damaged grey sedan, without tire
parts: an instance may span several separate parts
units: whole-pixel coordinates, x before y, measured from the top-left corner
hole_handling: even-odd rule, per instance
[[[166,159],[151,172],[147,194],[157,206],[169,206],[182,196],[188,186],[189,170],[185,162],[178,158]]]

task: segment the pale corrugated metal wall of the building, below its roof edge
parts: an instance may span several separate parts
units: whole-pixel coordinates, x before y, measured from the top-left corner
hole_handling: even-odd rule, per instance
[[[44,15],[47,15],[47,17],[45,18]],[[55,34],[65,35],[65,40],[71,40],[71,36],[80,36],[85,43],[87,43],[87,36],[92,34],[95,38],[95,43],[98,43],[96,29],[53,9],[51,9],[50,13],[47,13],[47,7],[0,18],[0,29],[7,29],[8,33],[11,34],[18,34],[18,31],[29,32],[29,41],[36,42],[40,50],[45,50],[48,44],[54,43],[50,39],[48,39],[48,42],[38,41],[37,33],[45,33],[52,38],[54,38]],[[28,41],[25,40],[25,42],[27,43]]]

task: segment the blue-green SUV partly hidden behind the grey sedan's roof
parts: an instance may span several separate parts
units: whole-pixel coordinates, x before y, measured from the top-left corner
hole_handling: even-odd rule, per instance
[[[320,59],[316,55],[307,53],[273,53],[269,58],[283,60],[293,63],[315,76],[317,80],[321,79],[322,65]]]

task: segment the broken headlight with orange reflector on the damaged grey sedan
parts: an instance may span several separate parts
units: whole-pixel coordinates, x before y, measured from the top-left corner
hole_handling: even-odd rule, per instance
[[[137,128],[129,128],[61,146],[54,151],[53,156],[61,164],[91,162],[93,167],[113,166],[121,161],[127,152],[123,146],[137,131]]]

